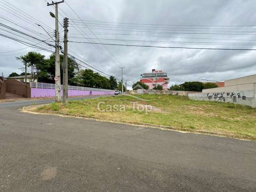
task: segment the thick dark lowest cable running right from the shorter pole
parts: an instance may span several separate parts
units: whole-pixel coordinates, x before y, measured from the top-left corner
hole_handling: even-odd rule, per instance
[[[74,41],[72,41],[72,42],[74,42]],[[76,42],[76,43],[91,44],[91,42]],[[102,43],[95,43],[95,44],[102,44]],[[164,47],[164,46],[150,46],[150,45],[125,45],[125,44],[107,44],[107,43],[104,43],[104,45],[132,46],[132,47],[155,47],[155,48],[209,49],[209,50],[256,50],[256,49],[228,49],[228,48]]]

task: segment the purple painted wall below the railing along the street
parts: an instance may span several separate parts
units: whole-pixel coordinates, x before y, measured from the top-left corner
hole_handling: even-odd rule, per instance
[[[109,91],[92,91],[92,95],[114,95]],[[61,90],[61,96],[63,92]],[[68,90],[68,96],[86,96],[90,95],[90,91],[85,90]],[[55,97],[55,89],[31,88],[31,97]]]

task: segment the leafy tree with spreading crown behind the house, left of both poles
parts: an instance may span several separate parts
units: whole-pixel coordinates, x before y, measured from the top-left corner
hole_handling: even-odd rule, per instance
[[[24,65],[27,64],[27,68],[32,75],[32,81],[48,76],[47,68],[48,64],[44,62],[44,55],[36,52],[28,52],[24,56],[16,57]]]

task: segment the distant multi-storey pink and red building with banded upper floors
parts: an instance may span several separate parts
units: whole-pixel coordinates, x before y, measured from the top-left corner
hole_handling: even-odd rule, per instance
[[[168,88],[169,78],[167,73],[162,70],[152,69],[151,73],[143,73],[141,76],[140,82],[148,85],[150,89],[158,84],[161,85],[164,90]]]

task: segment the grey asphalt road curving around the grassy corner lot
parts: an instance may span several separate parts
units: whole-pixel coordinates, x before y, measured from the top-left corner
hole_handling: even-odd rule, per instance
[[[1,192],[256,191],[254,141],[18,110],[47,102],[0,103]]]

